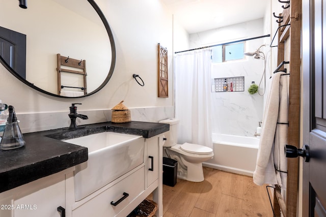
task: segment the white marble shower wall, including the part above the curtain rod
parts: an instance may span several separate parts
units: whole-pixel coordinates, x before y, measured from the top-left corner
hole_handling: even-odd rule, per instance
[[[268,33],[267,33],[268,34]],[[190,47],[202,47],[213,44],[232,42],[246,38],[267,35],[264,32],[264,19],[252,20],[236,25],[226,26],[206,32],[192,34]],[[257,50],[268,43],[269,37],[247,41],[247,52]],[[267,45],[269,48],[269,46]],[[266,54],[266,78],[269,78],[268,48],[262,50]],[[266,52],[267,51],[267,52]],[[258,85],[263,75],[264,61],[246,56],[243,60],[212,64],[211,78],[244,76],[244,91],[212,92],[213,133],[237,136],[254,136],[258,122],[263,116],[263,99],[266,96],[250,95],[248,92],[252,81]],[[263,83],[261,85],[263,91]]]

